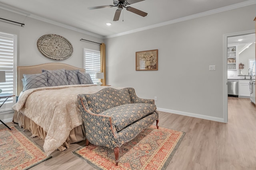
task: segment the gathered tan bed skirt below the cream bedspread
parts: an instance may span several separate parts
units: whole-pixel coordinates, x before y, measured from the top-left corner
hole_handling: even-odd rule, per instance
[[[39,137],[41,139],[45,139],[46,132],[42,127],[37,125],[34,121],[23,115],[20,111],[14,111],[13,122],[18,123],[20,127],[24,129],[24,131],[30,131],[32,133],[31,137]],[[84,125],[80,125],[72,129],[69,133],[68,138],[62,144],[62,146],[58,147],[58,150],[63,151],[69,148],[69,145],[72,143],[77,143],[85,140],[85,131]]]

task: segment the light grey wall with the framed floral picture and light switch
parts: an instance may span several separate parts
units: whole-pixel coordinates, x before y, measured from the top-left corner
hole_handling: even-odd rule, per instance
[[[160,110],[223,121],[224,34],[254,29],[256,5],[106,40],[107,84],[134,87]],[[158,49],[158,71],[136,71],[136,51]],[[216,71],[209,71],[216,65]]]

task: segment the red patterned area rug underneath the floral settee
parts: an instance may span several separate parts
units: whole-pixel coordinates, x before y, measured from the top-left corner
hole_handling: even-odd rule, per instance
[[[90,144],[72,153],[98,170],[165,170],[185,132],[148,127],[120,147],[118,166],[114,150]]]

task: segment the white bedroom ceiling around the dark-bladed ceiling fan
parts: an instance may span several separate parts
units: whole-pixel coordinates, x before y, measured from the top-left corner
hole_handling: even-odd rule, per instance
[[[130,6],[148,13],[146,17],[124,9],[120,20],[113,21],[117,7],[87,9],[93,6],[113,5],[113,0],[0,0],[2,9],[57,25],[64,24],[71,29],[91,33],[90,35],[101,38],[114,37],[251,4],[256,4],[256,0],[144,0]],[[111,22],[112,25],[107,26],[107,22]]]

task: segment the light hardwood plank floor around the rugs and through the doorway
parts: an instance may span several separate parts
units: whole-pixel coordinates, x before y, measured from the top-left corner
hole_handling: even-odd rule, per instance
[[[256,109],[250,99],[228,98],[228,123],[165,112],[159,120],[162,127],[186,132],[166,170],[256,170]],[[33,140],[42,147],[41,139]],[[71,153],[82,145],[56,150],[31,170],[95,170]]]

